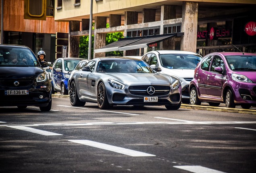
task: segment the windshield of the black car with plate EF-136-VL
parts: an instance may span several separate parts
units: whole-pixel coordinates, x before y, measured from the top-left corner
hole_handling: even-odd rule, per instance
[[[0,66],[39,66],[36,56],[25,48],[0,48]]]

